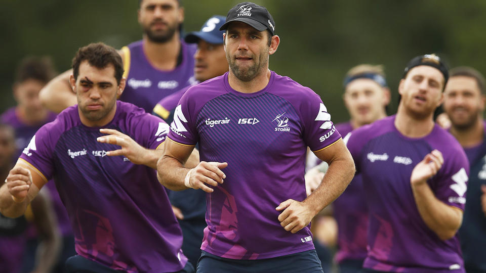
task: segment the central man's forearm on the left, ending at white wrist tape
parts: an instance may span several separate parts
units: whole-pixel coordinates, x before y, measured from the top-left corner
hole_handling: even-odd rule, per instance
[[[182,162],[167,155],[162,156],[157,162],[158,181],[169,190],[182,191],[188,189],[184,186],[184,178],[189,170],[182,165]]]

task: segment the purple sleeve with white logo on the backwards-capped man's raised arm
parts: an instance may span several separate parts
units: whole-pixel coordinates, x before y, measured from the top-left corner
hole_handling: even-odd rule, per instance
[[[469,163],[461,149],[454,156],[449,153],[449,158],[444,158],[439,175],[433,179],[432,191],[440,201],[464,210],[468,180]]]

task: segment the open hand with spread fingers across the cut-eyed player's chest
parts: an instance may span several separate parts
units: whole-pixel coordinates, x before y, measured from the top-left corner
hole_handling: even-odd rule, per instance
[[[96,140],[101,143],[109,143],[121,146],[121,149],[106,152],[107,156],[125,156],[134,164],[145,164],[147,149],[140,146],[130,136],[113,129],[100,129],[103,135]]]

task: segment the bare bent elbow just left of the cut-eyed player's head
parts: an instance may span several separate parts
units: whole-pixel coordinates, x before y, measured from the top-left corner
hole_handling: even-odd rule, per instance
[[[52,79],[41,89],[39,99],[44,107],[55,113],[60,113],[67,107],[77,104],[76,94],[69,84],[69,75],[71,74],[72,69],[69,69]]]

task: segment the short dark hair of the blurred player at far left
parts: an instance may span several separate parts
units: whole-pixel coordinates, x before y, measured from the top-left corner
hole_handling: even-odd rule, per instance
[[[23,58],[17,66],[15,82],[35,79],[48,83],[56,75],[52,60],[48,56],[29,56]]]

